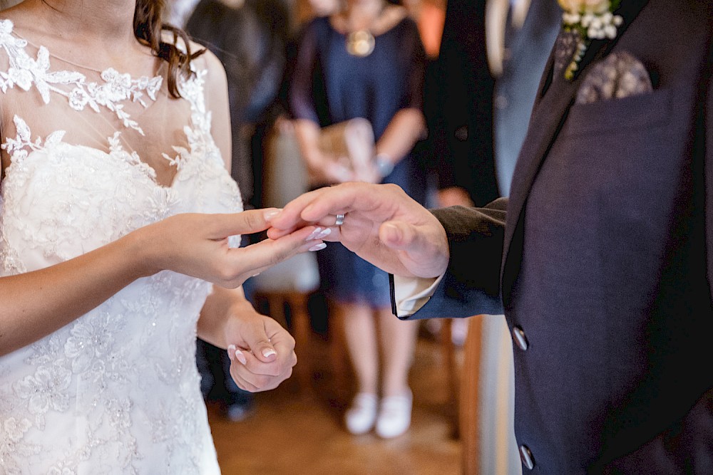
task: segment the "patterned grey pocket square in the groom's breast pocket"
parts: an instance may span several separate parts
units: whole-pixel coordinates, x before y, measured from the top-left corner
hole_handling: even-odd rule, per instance
[[[577,91],[578,104],[621,99],[652,92],[649,72],[626,51],[612,53],[592,66]]]

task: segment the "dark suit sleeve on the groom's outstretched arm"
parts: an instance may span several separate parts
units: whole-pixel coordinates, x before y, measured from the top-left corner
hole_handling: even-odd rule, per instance
[[[433,211],[446,229],[451,261],[429,302],[404,319],[503,313],[500,270],[507,204],[508,199],[501,198],[483,208],[449,207]],[[393,302],[393,277],[391,284]]]

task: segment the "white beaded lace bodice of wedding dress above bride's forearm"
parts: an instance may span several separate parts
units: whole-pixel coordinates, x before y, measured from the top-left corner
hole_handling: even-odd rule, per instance
[[[170,186],[122,151],[58,142],[15,158],[1,188],[0,251],[18,261],[6,271],[71,259],[173,214],[242,209],[217,150],[178,154]]]

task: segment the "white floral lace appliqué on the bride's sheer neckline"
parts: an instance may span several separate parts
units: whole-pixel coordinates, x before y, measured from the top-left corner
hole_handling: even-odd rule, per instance
[[[27,46],[31,46],[31,51],[27,51]],[[157,94],[160,93],[161,101],[169,100],[168,91],[163,86],[163,75],[160,73],[168,71],[164,61],[156,68],[157,75],[138,75],[134,77],[130,73],[119,73],[115,68],[109,67],[104,71],[96,68],[78,65],[66,58],[51,53],[48,48],[41,44],[29,41],[21,34],[14,31],[14,24],[11,20],[0,19],[0,48],[3,48],[9,56],[9,71],[0,75],[0,89],[5,92],[8,89],[19,87],[21,90],[35,88],[39,91],[43,103],[51,101],[51,95],[56,93],[68,100],[71,109],[81,112],[92,109],[96,113],[106,110],[111,115],[116,116],[125,127],[124,130],[133,129],[140,135],[145,135],[143,128],[137,122],[141,114],[130,113],[125,110],[124,103],[138,103],[140,108],[147,110],[150,106],[158,102]],[[51,61],[52,60],[52,61]],[[66,63],[57,65],[56,62]],[[96,80],[87,78],[86,75],[66,65],[73,65],[88,71],[98,73],[100,78]],[[58,66],[54,68],[53,66]],[[65,67],[63,67],[65,66]],[[159,170],[146,161],[143,154],[136,151],[126,151],[120,147],[123,141],[123,131],[116,130],[109,140],[109,150],[103,147],[86,145],[81,143],[72,144],[64,142],[63,130],[58,130],[61,134],[50,134],[46,137],[45,145],[57,145],[59,142],[71,145],[84,150],[96,150],[102,155],[112,157],[120,156],[123,161],[130,165],[137,165],[151,179],[156,187],[161,189],[172,189],[179,181],[178,176],[183,167],[185,159],[190,159],[193,155],[193,146],[197,145],[203,150],[206,145],[212,150],[212,140],[206,140],[206,134],[210,131],[210,115],[205,112],[205,105],[202,103],[202,85],[206,71],[194,71],[191,78],[180,80],[179,87],[185,100],[190,103],[190,117],[188,125],[182,127],[184,137],[187,139],[188,148],[179,145],[170,145],[170,148],[161,153],[170,165],[175,167],[173,173],[158,173]],[[136,111],[134,111],[136,112]],[[135,116],[132,117],[132,116]],[[29,153],[45,148],[41,144],[41,139],[32,140],[30,127],[19,118],[14,117],[18,135],[16,138],[4,137],[2,148],[8,152],[11,161],[29,155]],[[106,136],[105,136],[106,137]],[[173,152],[169,151],[172,150]],[[168,153],[167,153],[168,152]],[[189,160],[190,161],[190,160]],[[168,170],[167,170],[168,171]]]

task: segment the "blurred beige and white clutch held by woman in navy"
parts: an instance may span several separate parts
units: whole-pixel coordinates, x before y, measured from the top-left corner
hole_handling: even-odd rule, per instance
[[[354,118],[322,127],[319,148],[347,169],[368,169],[374,160],[374,130],[371,122],[364,118]]]

